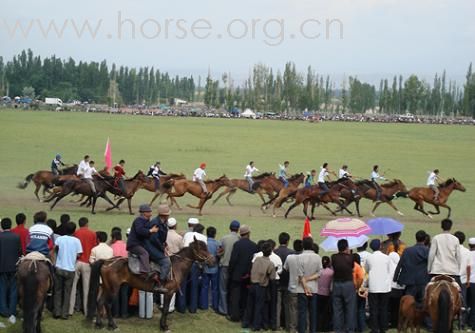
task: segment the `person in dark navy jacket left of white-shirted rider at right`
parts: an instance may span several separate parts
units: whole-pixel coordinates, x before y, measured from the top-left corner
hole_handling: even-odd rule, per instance
[[[404,250],[401,260],[394,272],[394,281],[406,286],[406,295],[414,296],[417,303],[421,304],[424,290],[429,282],[427,260],[429,248],[424,245],[426,232],[419,230],[416,233],[416,245]]]

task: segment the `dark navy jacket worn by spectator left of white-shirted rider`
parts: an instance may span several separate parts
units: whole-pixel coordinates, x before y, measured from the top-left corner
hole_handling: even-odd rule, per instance
[[[416,244],[404,250],[394,272],[394,281],[406,286],[426,285],[429,282],[427,260],[429,248]]]

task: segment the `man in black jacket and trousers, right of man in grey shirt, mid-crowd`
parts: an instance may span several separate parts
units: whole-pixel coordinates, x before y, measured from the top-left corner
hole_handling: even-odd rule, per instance
[[[231,321],[239,321],[247,302],[247,285],[250,283],[252,257],[257,252],[257,245],[250,240],[251,229],[242,225],[239,230],[241,239],[234,243],[229,260],[230,311]]]

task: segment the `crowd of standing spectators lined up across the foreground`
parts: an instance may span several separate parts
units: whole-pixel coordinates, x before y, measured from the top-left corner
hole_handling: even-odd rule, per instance
[[[15,220],[14,228],[10,218],[1,220],[0,315],[16,321],[16,263],[31,251],[53,253],[54,287],[47,303],[53,317],[87,315],[90,264],[128,255],[121,228],[114,227],[109,234],[94,231],[87,218],[76,225],[67,214],[57,225],[45,212],[33,216],[29,229],[24,214]],[[383,333],[397,327],[403,295],[412,295],[423,309],[431,277],[448,275],[460,286],[461,324],[475,330],[475,238],[467,241],[461,231],[452,234],[449,219],[441,222],[442,232],[432,239],[423,230],[416,232],[412,246],[400,240],[401,233],[384,241],[373,239],[355,250],[340,239],[338,253],[323,257],[311,237],[291,242],[290,235],[282,232],[278,244],[272,239],[255,242],[251,227],[236,220],[220,240],[215,227],[205,228],[196,218],[188,219],[183,232],[174,218],[168,218],[167,226],[168,255],[197,239],[207,243],[217,262],[193,264],[170,311],[211,309],[254,331]],[[114,316],[134,315],[137,295],[138,291],[122,285]],[[160,303],[159,297],[156,302]],[[430,321],[425,325],[430,328]]]

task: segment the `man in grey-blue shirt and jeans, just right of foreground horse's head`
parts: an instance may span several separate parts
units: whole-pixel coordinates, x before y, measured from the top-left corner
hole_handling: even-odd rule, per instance
[[[216,262],[218,262],[218,250],[221,248],[221,242],[215,239],[216,228],[206,228],[206,236],[208,237],[208,252],[214,256]],[[208,290],[211,283],[211,307],[215,312],[218,312],[218,277],[218,265],[204,266],[201,278],[200,309],[208,309]]]

